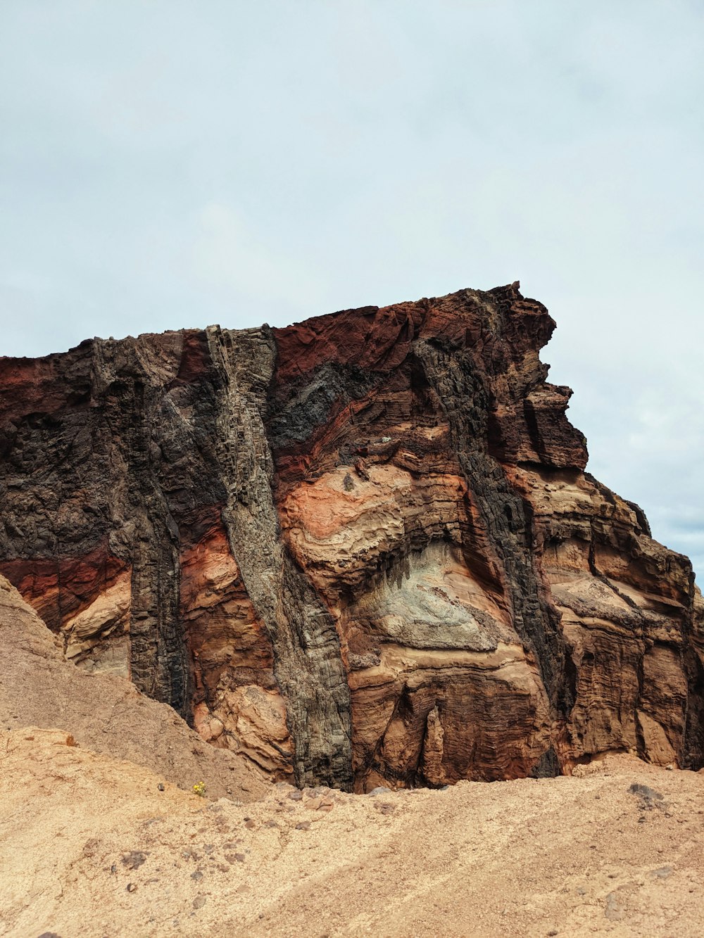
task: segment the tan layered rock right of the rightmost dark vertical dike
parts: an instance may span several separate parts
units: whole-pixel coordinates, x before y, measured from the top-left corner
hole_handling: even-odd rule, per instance
[[[686,658],[694,638],[689,562],[651,540],[643,516],[574,470],[515,467],[534,511],[543,578],[560,614],[568,697],[564,764],[606,748],[658,764],[699,756],[684,745]]]

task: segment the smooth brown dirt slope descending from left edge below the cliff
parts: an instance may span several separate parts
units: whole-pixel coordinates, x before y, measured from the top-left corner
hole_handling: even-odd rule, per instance
[[[170,706],[126,678],[80,671],[17,590],[0,576],[0,727],[61,727],[85,748],[145,765],[180,788],[251,800],[268,786],[231,750],[214,749]]]

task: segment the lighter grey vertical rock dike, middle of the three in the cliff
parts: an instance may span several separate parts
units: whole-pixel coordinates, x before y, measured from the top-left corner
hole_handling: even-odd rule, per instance
[[[352,784],[350,697],[329,611],[283,547],[265,431],[276,346],[268,330],[207,329],[222,379],[217,440],[223,521],[242,579],[274,650],[296,746],[298,784]]]

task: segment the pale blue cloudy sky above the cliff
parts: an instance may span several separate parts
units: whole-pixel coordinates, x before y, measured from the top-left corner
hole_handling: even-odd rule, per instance
[[[0,352],[521,280],[704,572],[703,63],[695,0],[0,0]]]

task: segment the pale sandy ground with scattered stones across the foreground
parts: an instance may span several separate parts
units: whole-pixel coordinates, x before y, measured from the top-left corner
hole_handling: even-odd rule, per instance
[[[581,778],[240,805],[71,741],[0,734],[3,935],[704,933],[701,773],[612,756]]]

